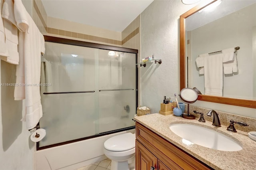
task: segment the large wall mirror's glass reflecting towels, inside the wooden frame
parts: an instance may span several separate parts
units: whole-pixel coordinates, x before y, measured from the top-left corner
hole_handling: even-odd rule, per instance
[[[213,11],[186,18],[187,87],[207,95],[256,99],[255,10],[255,0],[226,0]],[[233,50],[229,59],[228,49]]]

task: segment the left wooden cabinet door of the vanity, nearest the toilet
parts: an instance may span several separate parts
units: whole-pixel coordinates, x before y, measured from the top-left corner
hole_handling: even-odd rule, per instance
[[[151,169],[157,170],[156,156],[136,140],[136,170]]]

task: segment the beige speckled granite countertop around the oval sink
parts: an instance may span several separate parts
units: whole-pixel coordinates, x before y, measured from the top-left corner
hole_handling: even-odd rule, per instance
[[[174,115],[164,116],[159,113],[134,117],[134,120],[216,170],[256,169],[256,141],[251,140],[248,137],[247,132],[237,129],[237,133],[229,132],[224,125],[222,125],[222,127],[214,127],[212,122],[209,121],[201,123],[198,119],[189,120]],[[174,134],[172,130],[170,130],[169,126],[174,123],[188,123],[216,130],[236,140],[242,145],[243,149],[229,152],[206,148],[197,144],[186,145],[182,143],[182,138],[180,136]]]

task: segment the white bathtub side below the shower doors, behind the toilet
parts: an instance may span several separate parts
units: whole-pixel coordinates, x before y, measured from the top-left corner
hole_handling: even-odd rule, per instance
[[[117,134],[108,134],[97,138],[73,142],[61,146],[38,150],[34,154],[36,170],[75,170],[83,166],[106,159],[103,153],[104,142]],[[128,130],[133,132],[134,129]]]

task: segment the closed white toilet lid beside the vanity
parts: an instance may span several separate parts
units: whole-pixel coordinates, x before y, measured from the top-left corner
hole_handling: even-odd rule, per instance
[[[125,151],[135,147],[135,134],[124,133],[113,136],[104,142],[104,148],[112,151]]]

